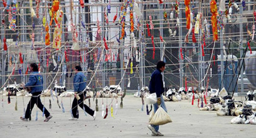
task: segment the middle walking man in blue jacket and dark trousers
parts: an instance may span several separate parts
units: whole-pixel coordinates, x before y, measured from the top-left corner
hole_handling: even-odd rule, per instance
[[[88,114],[92,115],[93,120],[96,118],[96,111],[90,109],[87,105],[83,104],[83,100],[85,99],[85,88],[86,88],[86,77],[82,72],[81,66],[75,66],[75,77],[73,80],[73,87],[75,92],[75,97],[72,104],[72,118],[69,120],[77,120],[79,117],[78,114],[78,105],[85,110]]]

